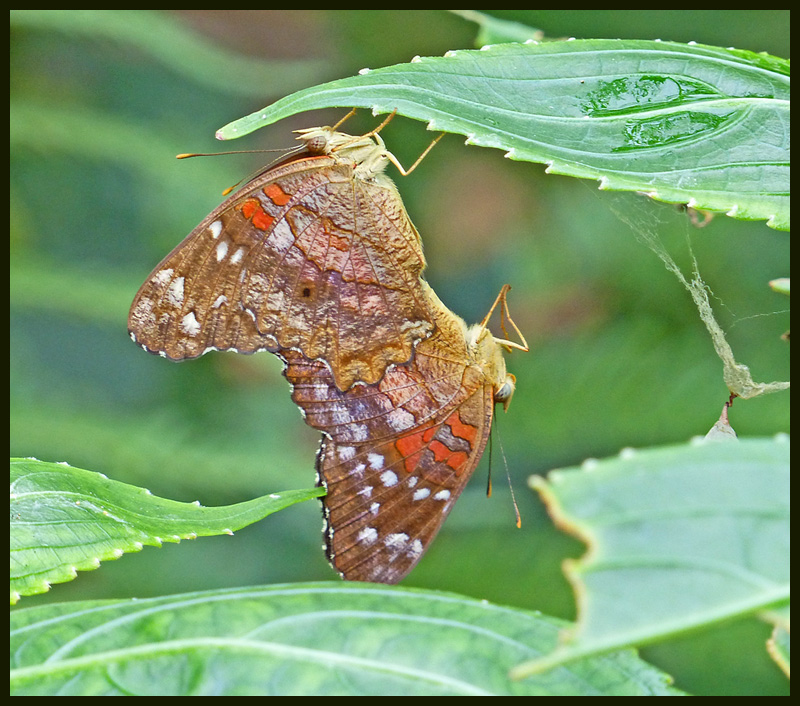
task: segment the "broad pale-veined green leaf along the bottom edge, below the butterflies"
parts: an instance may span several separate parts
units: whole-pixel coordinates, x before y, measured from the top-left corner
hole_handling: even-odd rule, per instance
[[[564,623],[455,594],[296,584],[11,614],[22,695],[677,695],[630,651],[524,682]]]

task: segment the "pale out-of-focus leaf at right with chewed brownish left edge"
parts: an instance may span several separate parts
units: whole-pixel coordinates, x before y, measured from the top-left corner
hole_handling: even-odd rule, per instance
[[[589,551],[566,567],[574,639],[518,676],[788,603],[782,437],[629,451],[531,483]]]

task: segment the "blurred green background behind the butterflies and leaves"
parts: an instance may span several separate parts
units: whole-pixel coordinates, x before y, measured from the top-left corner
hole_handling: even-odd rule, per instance
[[[789,56],[788,11],[495,14],[550,37],[695,40]],[[11,454],[204,505],[313,485],[318,434],[292,404],[277,359],[212,353],[174,364],[128,338],[127,310],[147,274],[224,188],[271,159],[174,155],[288,147],[291,130],[333,124],[346,109],[236,143],[213,135],[294,90],[471,48],[475,36],[475,25],[445,11],[12,11]],[[375,124],[360,111],[346,129]],[[431,138],[403,118],[383,136],[404,164]],[[582,547],[552,528],[528,476],[625,446],[685,442],[711,427],[727,397],[688,294],[618,214],[657,233],[684,267],[688,237],[734,352],[758,381],[788,379],[788,299],[767,287],[789,274],[788,235],[721,215],[696,229],[674,207],[546,175],[456,135],[410,177],[389,173],[443,301],[478,321],[508,282],[531,344],[507,359],[518,387],[495,425],[492,499],[486,454],[404,583],[571,619],[560,562]],[[788,431],[789,395],[738,401],[731,422],[740,436]],[[147,548],[21,605],[334,579],[320,526],[318,504],[306,503],[234,537]],[[767,635],[742,621],[644,656],[695,693],[780,694],[777,668],[753,659]]]

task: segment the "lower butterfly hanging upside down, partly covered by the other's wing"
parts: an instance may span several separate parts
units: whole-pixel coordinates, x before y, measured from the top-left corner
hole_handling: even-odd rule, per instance
[[[298,351],[281,351],[292,399],[323,432],[317,454],[325,548],[351,581],[397,583],[428,549],[481,458],[494,406],[507,407],[515,378],[486,318],[466,323],[423,283],[435,332],[413,358],[373,385],[340,390],[330,370]]]

